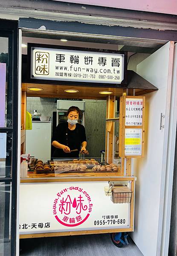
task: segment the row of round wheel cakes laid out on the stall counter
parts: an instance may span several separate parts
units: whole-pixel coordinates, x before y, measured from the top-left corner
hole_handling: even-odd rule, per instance
[[[114,163],[101,163],[91,159],[73,159],[47,161],[37,160],[29,165],[29,171],[34,174],[61,174],[61,173],[84,173],[84,172],[118,172],[120,167]]]

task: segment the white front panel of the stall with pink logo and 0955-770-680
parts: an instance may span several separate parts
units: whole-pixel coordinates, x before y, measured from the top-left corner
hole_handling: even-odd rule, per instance
[[[104,186],[108,181],[21,183],[20,234],[129,228],[131,204],[113,204]]]

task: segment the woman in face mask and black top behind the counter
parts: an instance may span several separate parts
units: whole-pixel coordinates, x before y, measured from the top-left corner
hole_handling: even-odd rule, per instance
[[[79,152],[88,154],[85,128],[78,123],[81,111],[72,106],[67,111],[68,120],[57,125],[52,137],[55,147],[53,158],[77,158]]]

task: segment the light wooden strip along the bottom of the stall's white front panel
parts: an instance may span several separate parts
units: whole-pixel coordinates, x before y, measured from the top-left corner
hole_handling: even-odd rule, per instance
[[[36,234],[21,234],[20,239],[24,238],[38,238],[38,237],[54,237],[54,236],[75,236],[75,235],[89,235],[102,233],[116,233],[116,232],[132,232],[133,228],[117,228],[105,230],[81,230],[69,232],[55,232],[55,233],[36,233]]]

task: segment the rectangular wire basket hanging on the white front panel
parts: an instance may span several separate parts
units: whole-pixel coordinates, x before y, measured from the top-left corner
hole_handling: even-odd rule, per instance
[[[130,204],[132,192],[113,192],[111,194],[111,201],[114,204]]]

